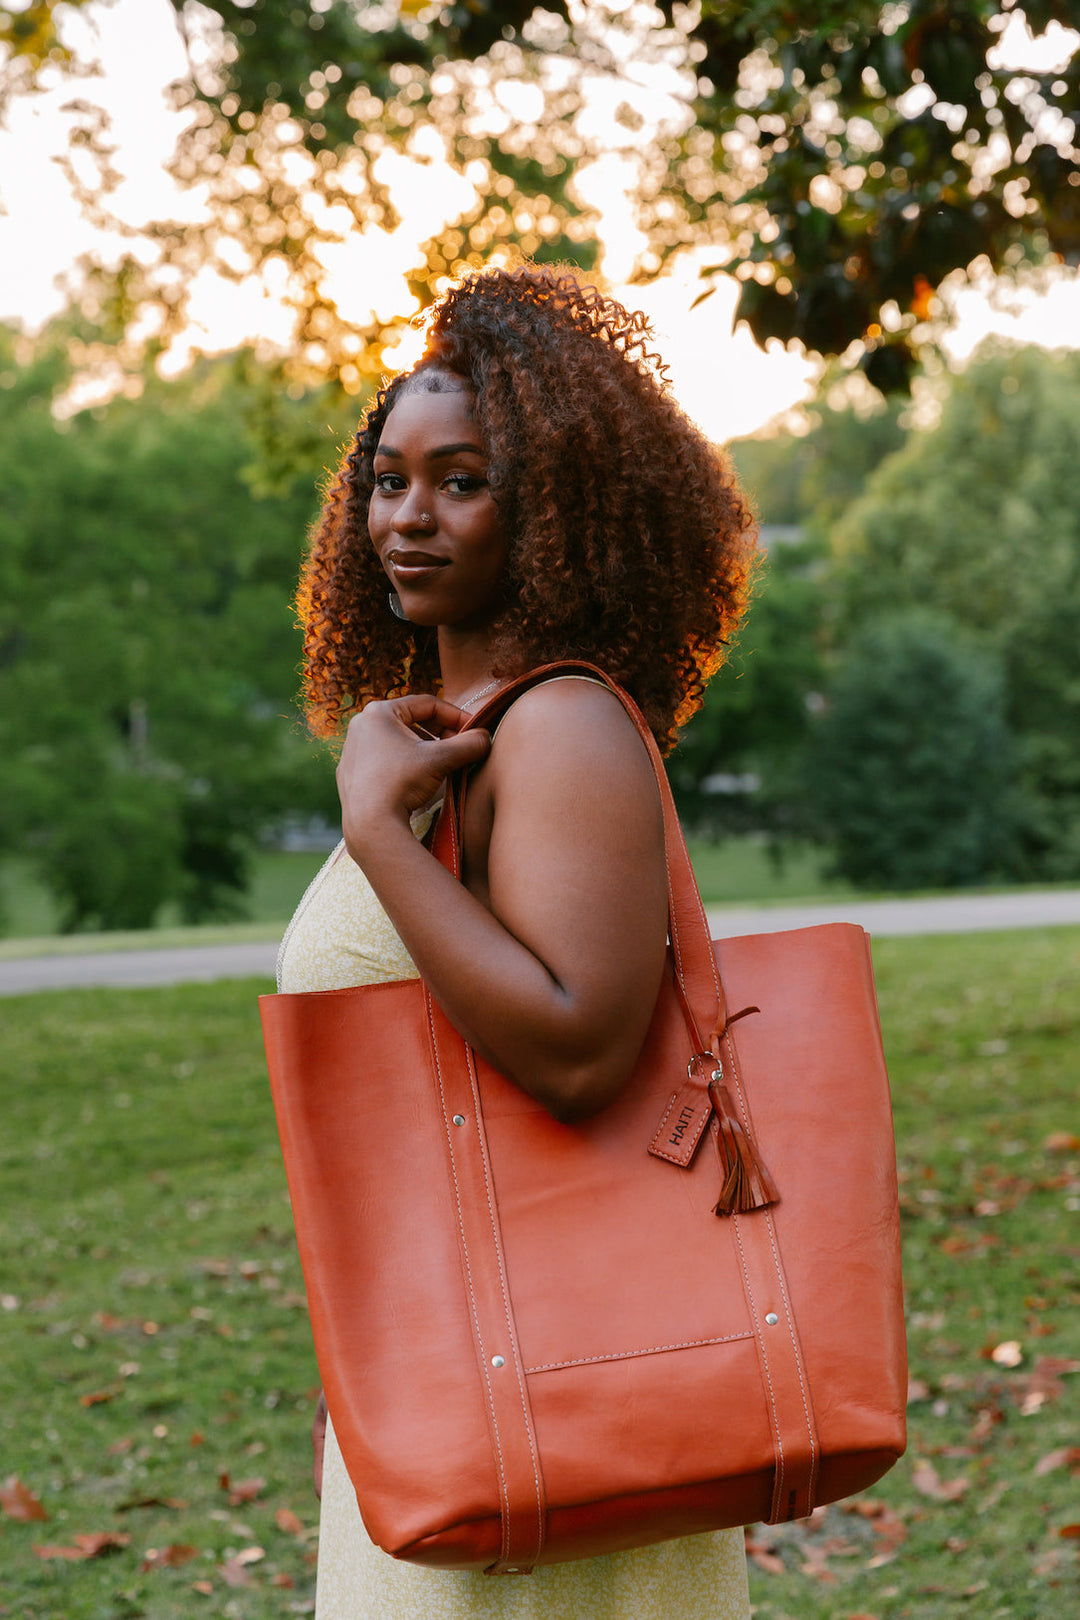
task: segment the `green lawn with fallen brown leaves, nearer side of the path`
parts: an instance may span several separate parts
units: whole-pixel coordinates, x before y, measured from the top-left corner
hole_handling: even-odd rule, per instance
[[[1054,1379],[1044,1359],[1080,1359],[1080,1150],[1061,1140],[1077,1131],[1080,930],[887,940],[876,964],[912,1442],[865,1511],[758,1529],[753,1601],[767,1620],[1062,1620],[1075,1479],[1036,1464],[1080,1443],[1080,1374]],[[0,1513],[0,1614],[309,1612],[317,1374],[259,988],[3,1003],[0,1481],[18,1476],[50,1516]],[[1009,1341],[1017,1366],[988,1359]],[[928,1464],[955,1500],[925,1494]],[[251,1479],[264,1484],[233,1502]],[[285,1508],[301,1534],[280,1528]],[[32,1552],[102,1531],[130,1542],[84,1562]],[[142,1568],[176,1545],[196,1549],[189,1562]],[[230,1565],[249,1547],[264,1557]],[[227,1568],[251,1584],[228,1586]]]

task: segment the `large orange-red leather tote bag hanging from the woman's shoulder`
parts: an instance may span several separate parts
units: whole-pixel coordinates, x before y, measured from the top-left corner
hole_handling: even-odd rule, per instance
[[[473,719],[491,724],[547,666]],[[607,682],[610,685],[610,682]],[[656,744],[670,949],[625,1092],[559,1124],[421,980],[262,996],[319,1371],[377,1545],[529,1570],[871,1486],[904,1450],[868,940],[711,943]],[[436,854],[457,867],[461,786]]]

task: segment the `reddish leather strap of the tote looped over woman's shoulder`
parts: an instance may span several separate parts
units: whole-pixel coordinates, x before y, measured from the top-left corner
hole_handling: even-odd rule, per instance
[[[653,765],[653,774],[656,776],[656,786],[664,812],[667,912],[675,974],[691,1014],[698,1050],[704,1051],[708,1047],[703,1037],[717,1024],[717,1013],[724,1001],[724,991],[716,969],[709,923],[704,915],[704,907],[701,906],[701,896],[698,894],[698,883],[693,875],[693,867],[690,865],[690,852],[687,849],[682,826],[678,825],[678,813],[675,810],[675,800],[672,799],[670,782],[667,781],[667,771],[664,770],[664,761],[661,760],[661,750],[656,745],[656,737],[649,731],[641,710],[633,701],[630,693],[623,692],[623,688],[596,664],[578,659],[541,664],[538,669],[531,669],[526,676],[520,676],[517,680],[512,680],[492,698],[489,698],[489,701],[484,703],[476,714],[470,716],[468,724],[461,729],[470,731],[479,726],[491,726],[492,721],[497,721],[505,710],[508,710],[510,705],[521,697],[523,692],[528,692],[531,687],[542,684],[555,674],[585,674],[599,680],[609,688],[609,692],[614,692],[633,721],[633,726],[649,755],[649,763]],[[436,859],[449,872],[452,872],[455,878],[461,876],[460,839],[457,836],[457,829],[461,826],[465,808],[466,774],[468,773],[460,773],[457,779],[452,779],[431,846]]]

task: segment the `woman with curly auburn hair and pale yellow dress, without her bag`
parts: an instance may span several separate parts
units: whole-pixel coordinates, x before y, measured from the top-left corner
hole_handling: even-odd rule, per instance
[[[573,275],[489,271],[436,306],[376,400],[301,585],[313,729],[351,714],[343,844],[282,948],[283,990],[421,975],[457,1029],[559,1119],[628,1079],[667,932],[659,799],[617,698],[586,677],[458,732],[513,676],[599,664],[661,747],[699,706],[746,599],[748,509],[682,415],[648,327]],[[463,881],[424,836],[471,768]],[[325,1434],[317,1620],[730,1620],[742,1536],[491,1581],[374,1549]]]

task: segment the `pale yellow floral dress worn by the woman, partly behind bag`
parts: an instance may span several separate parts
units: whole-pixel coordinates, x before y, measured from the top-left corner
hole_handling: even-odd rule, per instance
[[[413,818],[423,838],[431,815]],[[340,844],[282,941],[279,988],[343,990],[416,978],[359,867]],[[426,1570],[368,1536],[327,1426],[316,1620],[748,1620],[742,1531],[687,1536],[528,1576]]]

